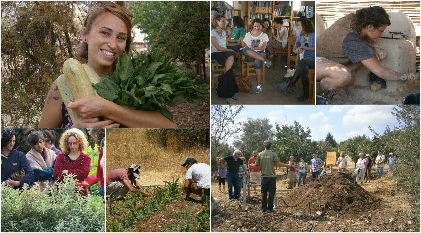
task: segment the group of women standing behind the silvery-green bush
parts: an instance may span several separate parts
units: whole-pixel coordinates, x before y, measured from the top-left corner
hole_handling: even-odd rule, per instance
[[[103,190],[101,141],[103,143],[104,130],[90,129],[89,134],[100,146],[97,179],[99,188]],[[31,188],[38,183],[41,190],[44,190],[63,182],[66,175],[73,174],[80,182],[89,175],[91,157],[83,152],[88,148],[88,141],[79,129],[69,129],[61,135],[60,148],[63,151],[59,151],[53,144],[56,139],[53,130],[28,129],[24,132],[24,138],[31,149],[26,155],[16,150],[21,141],[15,130],[3,129],[1,136],[1,182],[11,188],[21,189],[24,184]],[[88,196],[87,187],[82,188],[81,194]]]

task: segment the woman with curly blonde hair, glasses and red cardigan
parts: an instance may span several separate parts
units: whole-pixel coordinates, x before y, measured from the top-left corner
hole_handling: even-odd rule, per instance
[[[88,148],[85,134],[79,129],[64,131],[60,148],[63,152],[57,156],[53,177],[63,182],[65,175],[73,174],[78,181],[85,180],[91,170],[91,157],[83,153]],[[84,187],[81,194],[88,196],[88,188]]]

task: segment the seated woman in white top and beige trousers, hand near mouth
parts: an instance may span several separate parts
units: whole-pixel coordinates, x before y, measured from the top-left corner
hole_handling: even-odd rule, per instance
[[[288,42],[288,29],[284,26],[284,20],[282,18],[276,18],[273,20],[273,25],[277,33],[268,35],[269,39],[273,39],[269,40],[266,46],[269,60],[273,57],[273,50],[275,48],[286,48]]]

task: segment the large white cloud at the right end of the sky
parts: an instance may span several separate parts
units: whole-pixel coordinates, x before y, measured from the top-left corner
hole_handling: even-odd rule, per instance
[[[342,117],[342,123],[354,126],[386,126],[396,121],[391,114],[395,106],[357,105]]]

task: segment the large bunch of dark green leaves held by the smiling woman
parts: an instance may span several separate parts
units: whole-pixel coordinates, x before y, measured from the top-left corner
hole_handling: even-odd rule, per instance
[[[160,48],[136,56],[124,52],[118,58],[116,69],[92,85],[102,98],[131,109],[156,111],[164,105],[175,107],[183,101],[200,106],[203,95],[208,95],[209,85],[195,85],[194,76],[171,61]],[[170,111],[161,109],[161,113],[173,121]]]

